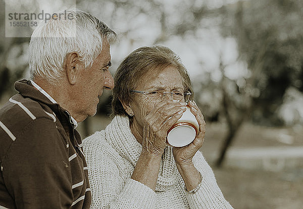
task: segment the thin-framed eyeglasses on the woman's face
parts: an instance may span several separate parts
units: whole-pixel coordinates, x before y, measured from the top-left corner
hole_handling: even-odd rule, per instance
[[[178,102],[182,101],[183,99],[184,102],[188,102],[189,97],[191,95],[191,93],[188,91],[165,92],[164,90],[154,90],[152,92],[144,92],[144,91],[131,90],[131,92],[146,95],[150,102],[162,102],[166,97],[166,95],[170,95],[173,98],[173,100],[178,100]]]

